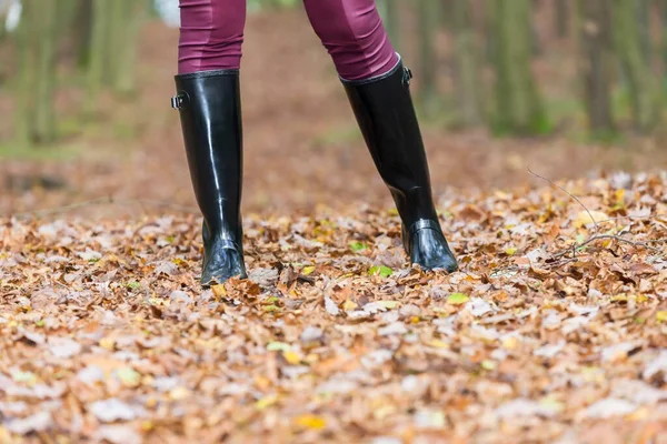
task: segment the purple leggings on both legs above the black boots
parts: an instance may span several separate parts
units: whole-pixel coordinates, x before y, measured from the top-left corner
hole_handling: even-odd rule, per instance
[[[246,24],[246,0],[179,0],[179,73],[238,69]],[[398,63],[375,0],[303,0],[315,32],[338,74],[362,80]]]

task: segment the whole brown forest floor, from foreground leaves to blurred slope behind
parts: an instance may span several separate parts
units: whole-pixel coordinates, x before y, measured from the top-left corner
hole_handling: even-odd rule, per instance
[[[461,270],[424,274],[305,17],[247,38],[248,281],[197,284],[173,31],[137,98],[2,161],[0,443],[665,442],[665,150],[426,125]]]

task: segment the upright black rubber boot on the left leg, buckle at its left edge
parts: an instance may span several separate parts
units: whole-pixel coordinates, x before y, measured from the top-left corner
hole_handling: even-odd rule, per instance
[[[243,263],[243,170],[238,70],[176,75],[172,107],[180,112],[190,176],[203,215],[201,284],[247,278]]]

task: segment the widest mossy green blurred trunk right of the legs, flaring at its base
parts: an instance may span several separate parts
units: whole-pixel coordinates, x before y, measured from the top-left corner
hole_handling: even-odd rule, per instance
[[[529,0],[490,0],[496,40],[496,112],[500,134],[545,133],[550,125],[531,70]]]

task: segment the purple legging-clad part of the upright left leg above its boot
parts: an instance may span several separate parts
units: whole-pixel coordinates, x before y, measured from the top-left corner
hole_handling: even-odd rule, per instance
[[[178,73],[239,69],[246,0],[180,0]]]

